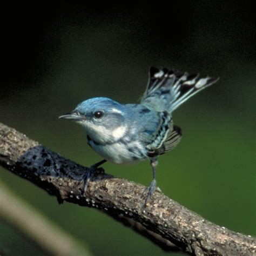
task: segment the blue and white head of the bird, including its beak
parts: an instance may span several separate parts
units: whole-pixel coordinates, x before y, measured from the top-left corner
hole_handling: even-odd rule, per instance
[[[109,98],[91,98],[59,118],[74,120],[98,143],[111,143],[126,132],[125,107]]]

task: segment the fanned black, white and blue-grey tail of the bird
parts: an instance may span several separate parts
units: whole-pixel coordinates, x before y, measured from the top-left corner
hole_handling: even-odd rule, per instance
[[[187,99],[216,83],[219,78],[199,78],[199,74],[177,70],[150,68],[149,83],[141,103],[161,112],[176,110]]]

